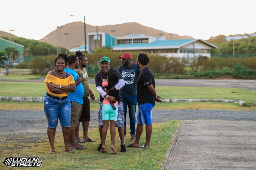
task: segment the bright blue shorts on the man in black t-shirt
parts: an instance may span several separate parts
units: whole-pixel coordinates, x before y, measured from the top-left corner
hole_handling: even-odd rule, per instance
[[[144,103],[138,106],[137,124],[152,124],[152,111],[154,108],[152,103]]]

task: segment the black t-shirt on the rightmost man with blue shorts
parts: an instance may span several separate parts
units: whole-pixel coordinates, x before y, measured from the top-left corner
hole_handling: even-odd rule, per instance
[[[146,67],[141,71],[137,81],[137,101],[139,106],[144,103],[155,104],[155,96],[147,88],[147,85],[150,84],[155,88],[154,76],[150,69]]]

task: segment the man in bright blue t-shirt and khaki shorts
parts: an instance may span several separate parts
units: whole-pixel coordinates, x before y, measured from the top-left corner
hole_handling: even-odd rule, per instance
[[[78,76],[75,69],[78,68],[78,57],[76,55],[70,55],[70,61],[68,62],[68,67],[64,70],[65,72],[71,74],[76,82],[76,91],[69,93],[68,97],[71,103],[71,116],[70,116],[70,148],[83,150],[85,147],[76,143],[75,140],[75,128],[78,126],[79,118],[82,111],[83,95],[84,89],[82,85],[82,79]]]

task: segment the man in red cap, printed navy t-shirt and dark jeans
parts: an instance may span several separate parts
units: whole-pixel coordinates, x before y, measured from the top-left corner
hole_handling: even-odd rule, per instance
[[[132,55],[130,53],[124,53],[122,56],[119,56],[122,60],[122,65],[119,66],[118,71],[121,73],[124,78],[125,85],[121,90],[121,97],[123,100],[124,108],[124,135],[126,135],[126,114],[127,114],[127,105],[129,108],[129,118],[130,118],[130,134],[131,139],[135,140],[135,112],[137,105],[137,78],[141,72],[137,68],[135,63],[132,63]]]

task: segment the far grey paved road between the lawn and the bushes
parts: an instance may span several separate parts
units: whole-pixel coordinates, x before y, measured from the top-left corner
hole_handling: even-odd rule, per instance
[[[10,80],[4,77],[0,81],[11,82],[37,82],[43,83],[45,78],[35,80]],[[95,79],[89,79],[90,84],[95,84]],[[231,87],[256,90],[256,80],[202,80],[202,79],[155,79],[159,86],[185,86],[185,87]]]

